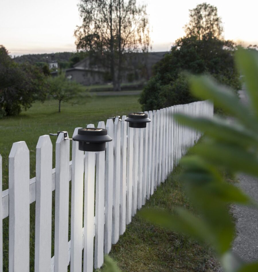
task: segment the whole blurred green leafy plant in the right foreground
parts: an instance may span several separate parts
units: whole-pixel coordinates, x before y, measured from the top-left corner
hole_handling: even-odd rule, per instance
[[[236,62],[245,75],[250,105],[243,105],[232,90],[217,85],[208,77],[191,77],[190,80],[193,95],[212,99],[214,105],[234,117],[234,123],[218,118],[176,116],[179,122],[206,135],[202,144],[191,148],[194,156],[181,159],[185,171],[180,175],[191,203],[201,216],[184,208],[176,208],[176,215],[150,209],[141,213],[155,224],[210,244],[225,271],[250,272],[258,271],[258,262],[244,263],[231,251],[234,223],[228,204],[256,204],[240,189],[227,183],[219,171],[258,177],[258,53],[239,50]]]

